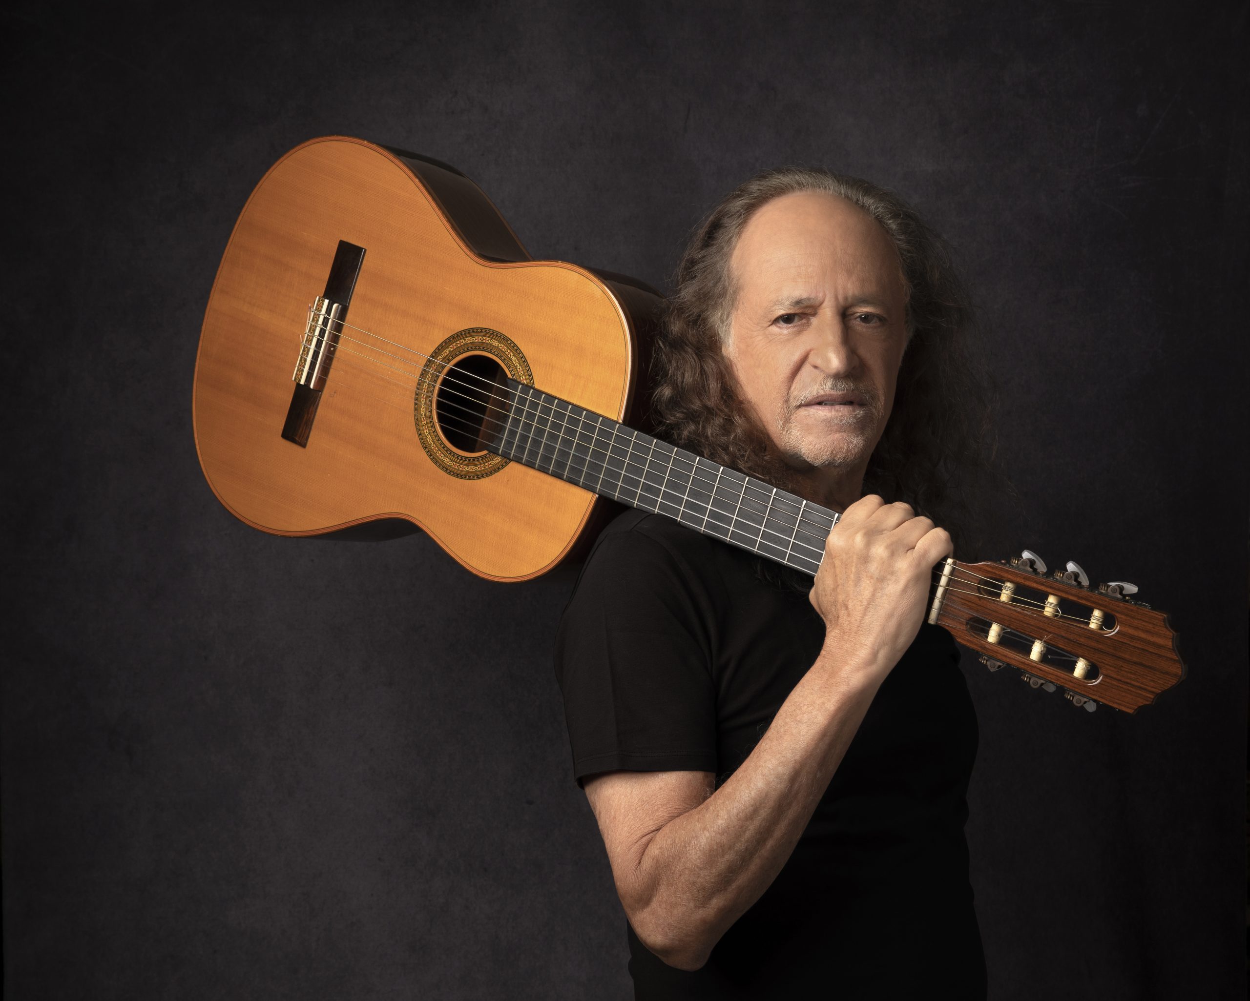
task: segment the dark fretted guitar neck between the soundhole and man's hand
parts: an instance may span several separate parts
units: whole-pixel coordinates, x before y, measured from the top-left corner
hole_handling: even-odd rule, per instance
[[[508,389],[489,451],[815,576],[836,511],[532,386]]]

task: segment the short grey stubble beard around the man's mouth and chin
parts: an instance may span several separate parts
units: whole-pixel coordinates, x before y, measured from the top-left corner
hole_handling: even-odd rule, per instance
[[[825,392],[854,392],[856,406],[830,407],[816,422],[801,417],[801,407]],[[844,412],[838,412],[844,411]],[[854,379],[826,379],[819,386],[791,394],[781,421],[781,454],[799,469],[848,469],[866,461],[880,436],[881,395]]]

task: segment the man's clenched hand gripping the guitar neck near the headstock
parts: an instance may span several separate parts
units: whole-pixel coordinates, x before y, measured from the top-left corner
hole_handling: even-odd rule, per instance
[[[880,684],[916,637],[934,564],[950,554],[950,535],[906,504],[855,501],[829,532],[811,589],[825,650]]]

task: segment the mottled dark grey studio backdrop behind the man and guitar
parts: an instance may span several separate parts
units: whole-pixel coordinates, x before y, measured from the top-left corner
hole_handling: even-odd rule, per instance
[[[1190,671],[1086,715],[966,659],[991,996],[1244,997],[1245,20],[18,4],[6,997],[629,996],[551,671],[569,581],[264,536],[200,475],[218,259],[269,165],[332,132],[455,164],[535,256],[661,287],[758,169],[918,204],[978,296],[1019,491],[966,555],[1139,582]]]

